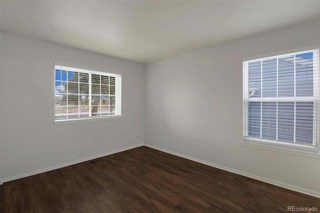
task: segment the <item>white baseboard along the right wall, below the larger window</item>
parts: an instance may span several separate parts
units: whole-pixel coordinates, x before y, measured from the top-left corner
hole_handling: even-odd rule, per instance
[[[266,177],[258,176],[258,175],[255,175],[255,174],[247,173],[247,172],[244,172],[244,171],[239,171],[239,170],[236,170],[236,169],[233,169],[233,168],[229,168],[229,167],[226,167],[226,166],[223,166],[223,165],[218,165],[218,164],[211,163],[211,162],[208,162],[208,161],[205,161],[205,160],[197,159],[197,158],[194,158],[194,157],[189,157],[187,155],[180,154],[180,153],[177,153],[177,152],[174,152],[174,151],[169,151],[169,150],[166,150],[166,149],[163,149],[163,148],[159,148],[159,147],[154,146],[154,145],[149,145],[149,144],[145,144],[145,143],[144,143],[144,145],[147,146],[147,147],[150,147],[150,148],[157,149],[159,151],[163,151],[163,152],[166,152],[166,153],[169,153],[169,154],[173,154],[173,155],[176,155],[176,156],[179,156],[179,157],[183,157],[183,158],[186,158],[186,159],[189,159],[189,160],[193,160],[193,161],[205,164],[205,165],[209,165],[209,166],[212,166],[212,167],[215,167],[215,168],[219,168],[219,169],[222,169],[222,170],[225,170],[225,171],[236,173],[236,174],[239,174],[239,175],[242,175],[242,176],[246,176],[246,177],[249,177],[249,178],[252,178],[252,179],[260,180],[262,182],[266,182],[266,183],[269,183],[269,184],[272,184],[272,185],[276,185],[276,186],[279,186],[279,187],[282,187],[282,188],[286,188],[286,189],[289,189],[289,190],[292,190],[292,191],[297,191],[297,192],[300,192],[300,193],[304,193],[304,194],[307,194],[307,195],[311,195],[311,196],[320,198],[320,192],[319,191],[314,191],[314,190],[310,190],[310,189],[307,189],[307,188],[302,188],[302,187],[299,187],[299,186],[291,185],[291,184],[288,184],[288,183],[285,183],[285,182],[280,182],[280,181],[277,181],[277,180],[273,180],[273,179],[269,179],[269,178],[266,178]]]

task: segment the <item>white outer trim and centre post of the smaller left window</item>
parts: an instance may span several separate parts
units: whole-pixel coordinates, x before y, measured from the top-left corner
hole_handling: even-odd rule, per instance
[[[96,121],[96,120],[109,120],[109,119],[120,119],[122,118],[122,105],[121,105],[121,89],[122,89],[122,76],[121,74],[118,73],[110,73],[110,72],[103,72],[103,71],[95,71],[95,70],[90,70],[90,69],[84,69],[84,68],[77,68],[74,66],[66,66],[66,65],[61,65],[63,63],[53,63],[53,70],[54,70],[54,82],[53,82],[53,97],[54,97],[54,104],[53,104],[53,123],[54,124],[61,124],[61,123],[76,123],[76,122],[84,122],[84,121]],[[72,70],[72,71],[77,71],[77,72],[85,72],[89,73],[89,93],[91,91],[91,74],[99,74],[99,75],[105,75],[105,76],[112,76],[115,78],[119,78],[119,83],[115,84],[115,94],[114,96],[117,97],[115,98],[115,114],[114,115],[99,115],[99,116],[91,116],[91,95],[89,95],[89,117],[78,117],[78,118],[66,118],[66,119],[55,119],[55,69],[56,66],[64,67],[67,70]],[[66,75],[68,75],[68,71],[66,72]],[[101,86],[101,85],[100,85]],[[100,91],[101,95],[101,91]],[[67,98],[67,96],[66,96]],[[66,100],[67,101],[67,100]],[[116,107],[119,106],[119,107]],[[68,105],[66,106],[68,107]]]

